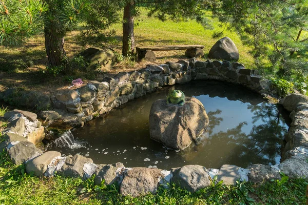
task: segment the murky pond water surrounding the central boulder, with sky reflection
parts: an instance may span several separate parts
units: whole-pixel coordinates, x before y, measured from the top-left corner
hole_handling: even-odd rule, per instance
[[[219,81],[194,81],[174,86],[198,98],[209,117],[207,133],[183,151],[166,149],[149,137],[148,117],[153,101],[166,98],[168,89],[129,101],[119,109],[72,130],[76,145],[53,148],[62,154],[90,157],[94,163],[122,162],[126,167],[184,165],[246,168],[253,163],[280,162],[287,125],[276,105],[253,91]]]

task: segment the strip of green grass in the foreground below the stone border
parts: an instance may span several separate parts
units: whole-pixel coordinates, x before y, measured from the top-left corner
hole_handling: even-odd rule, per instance
[[[93,177],[34,177],[15,166],[7,154],[0,156],[0,204],[304,204],[308,182],[304,179],[273,180],[260,186],[221,183],[190,192],[170,185],[156,195],[121,196],[119,186],[94,186]]]

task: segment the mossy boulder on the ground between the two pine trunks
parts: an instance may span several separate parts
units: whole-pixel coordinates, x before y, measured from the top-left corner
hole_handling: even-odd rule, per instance
[[[95,70],[106,70],[110,69],[115,59],[114,53],[109,48],[87,48],[82,51],[80,56],[83,56],[86,61],[90,64],[90,69]]]

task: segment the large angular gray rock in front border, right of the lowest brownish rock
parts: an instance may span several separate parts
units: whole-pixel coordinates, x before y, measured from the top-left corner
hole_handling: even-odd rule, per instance
[[[206,168],[200,165],[186,165],[173,171],[172,174],[171,182],[191,193],[210,185],[210,176]]]

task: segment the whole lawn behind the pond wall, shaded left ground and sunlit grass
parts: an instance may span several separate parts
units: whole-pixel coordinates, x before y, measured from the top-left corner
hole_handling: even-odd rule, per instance
[[[205,30],[195,20],[188,22],[161,22],[156,18],[148,18],[146,10],[141,9],[141,15],[136,18],[138,25],[135,27],[134,34],[136,38],[136,46],[152,46],[152,45],[204,45],[204,53],[207,54],[211,46],[213,46],[219,38],[212,38],[214,32],[220,32],[218,19],[213,19],[214,30]],[[112,47],[118,53],[121,53],[121,36],[122,25],[114,25],[111,29],[115,29],[116,35]],[[65,50],[68,58],[72,58],[90,45],[81,46],[76,40],[78,31],[69,32],[65,37]],[[254,59],[249,54],[249,48],[241,43],[239,36],[235,32],[224,31],[221,36],[232,38],[240,52],[240,62],[247,68],[254,67]],[[57,77],[48,74],[46,70],[47,55],[44,45],[44,34],[37,35],[28,40],[28,42],[20,47],[1,47],[0,52],[0,91],[6,88],[18,87],[26,90],[37,90],[45,94],[52,94],[56,90],[65,89],[70,86],[72,79],[81,77],[85,82],[87,80],[102,80],[105,75],[113,76],[119,71],[130,71],[145,67],[148,62],[133,63],[131,61],[122,61],[115,65],[114,69],[103,73],[83,73],[80,72],[73,76]],[[155,63],[162,64],[167,60],[177,61],[178,59],[187,59],[183,51],[164,51],[155,52],[158,59]]]

